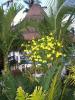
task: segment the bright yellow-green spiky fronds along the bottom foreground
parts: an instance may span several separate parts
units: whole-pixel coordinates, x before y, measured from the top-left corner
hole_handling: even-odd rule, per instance
[[[43,89],[42,86],[36,86],[34,91],[31,94],[24,93],[22,87],[18,88],[17,100],[20,98],[25,98],[25,100],[60,100],[62,89],[61,89],[61,79],[60,79],[60,70],[58,68],[56,74],[52,77],[53,80],[49,84],[48,90]],[[21,99],[22,100],[22,99]],[[63,99],[61,99],[63,100]]]

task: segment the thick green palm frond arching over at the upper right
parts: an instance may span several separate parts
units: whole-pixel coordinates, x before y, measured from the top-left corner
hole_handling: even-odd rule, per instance
[[[56,22],[55,22],[55,31],[57,37],[61,37],[63,34],[66,34],[67,28],[72,23],[72,16],[75,13],[75,8],[65,6],[64,4],[61,5],[61,7],[58,9],[57,14],[55,16]],[[62,20],[65,16],[65,14],[70,14],[70,17],[68,21],[65,23],[65,25],[62,27]]]

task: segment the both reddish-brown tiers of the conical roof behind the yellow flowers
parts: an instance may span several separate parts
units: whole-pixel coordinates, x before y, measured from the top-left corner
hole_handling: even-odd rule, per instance
[[[33,4],[25,17],[25,20],[41,21],[45,16],[46,13],[42,7],[38,4]],[[24,40],[32,40],[39,37],[39,32],[36,31],[34,27],[28,27],[28,29],[23,33]]]

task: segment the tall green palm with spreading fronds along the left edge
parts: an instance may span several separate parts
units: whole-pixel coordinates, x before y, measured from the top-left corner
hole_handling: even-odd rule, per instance
[[[2,8],[0,8],[0,50],[3,54],[4,68],[7,66],[8,53],[10,51],[13,41],[20,35],[21,29],[23,28],[23,23],[17,26],[11,26],[11,23],[16,15],[17,9],[15,6],[9,8],[8,12],[5,13]],[[24,21],[23,21],[24,22]]]

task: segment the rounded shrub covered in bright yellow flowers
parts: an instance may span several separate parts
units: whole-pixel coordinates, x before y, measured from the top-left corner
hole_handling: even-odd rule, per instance
[[[63,56],[62,42],[56,40],[52,33],[21,46],[25,48],[24,52],[27,52],[29,59],[35,62],[47,63]]]

